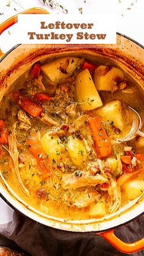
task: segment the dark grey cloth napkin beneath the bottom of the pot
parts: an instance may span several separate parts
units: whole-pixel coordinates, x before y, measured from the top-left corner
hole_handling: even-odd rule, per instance
[[[115,233],[126,243],[143,238],[144,214],[129,224],[118,227]],[[13,213],[12,222],[0,225],[0,234],[3,240],[5,237],[5,246],[16,250],[21,248],[32,256],[126,255],[117,251],[101,236],[93,233],[71,233],[51,229],[16,211]],[[1,245],[4,245],[4,241]],[[144,250],[131,255],[144,256]]]

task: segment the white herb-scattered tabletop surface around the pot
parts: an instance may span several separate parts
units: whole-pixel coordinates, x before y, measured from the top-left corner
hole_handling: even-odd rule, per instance
[[[117,23],[117,31],[144,45],[144,0],[57,0],[55,2],[64,5],[68,9],[68,13],[79,13],[81,7],[83,13],[87,13],[87,15],[95,13],[95,10],[100,13],[115,12],[117,21],[113,22]],[[32,7],[43,7],[50,13],[65,13],[58,7],[52,10],[41,0],[0,0],[0,23],[10,16]],[[12,212],[13,210],[0,199],[0,224],[10,221]]]

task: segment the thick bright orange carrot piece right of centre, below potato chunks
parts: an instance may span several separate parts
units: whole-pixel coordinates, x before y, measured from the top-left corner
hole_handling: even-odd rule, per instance
[[[92,138],[98,158],[101,159],[111,155],[112,147],[100,117],[91,117],[88,120],[88,125],[92,131]]]

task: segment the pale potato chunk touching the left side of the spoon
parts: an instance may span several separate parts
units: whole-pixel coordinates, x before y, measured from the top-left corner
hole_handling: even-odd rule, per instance
[[[112,122],[115,127],[119,128],[121,131],[123,130],[123,114],[119,100],[110,101],[102,108],[96,109],[96,114],[102,118],[103,122]]]

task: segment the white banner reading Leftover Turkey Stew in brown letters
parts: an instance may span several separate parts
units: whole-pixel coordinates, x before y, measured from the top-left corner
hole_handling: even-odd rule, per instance
[[[18,15],[17,43],[115,44],[115,16]]]

